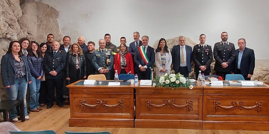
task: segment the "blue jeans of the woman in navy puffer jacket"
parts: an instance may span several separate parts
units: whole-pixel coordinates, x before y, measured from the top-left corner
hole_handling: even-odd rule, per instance
[[[40,82],[41,80],[36,80],[35,77],[32,76],[32,83],[29,84],[30,88],[30,110],[34,110],[39,108],[39,89],[40,89]]]

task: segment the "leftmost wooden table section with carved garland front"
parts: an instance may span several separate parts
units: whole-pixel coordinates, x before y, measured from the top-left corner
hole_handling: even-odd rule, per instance
[[[132,86],[75,85],[80,81],[67,86],[69,127],[134,127]]]

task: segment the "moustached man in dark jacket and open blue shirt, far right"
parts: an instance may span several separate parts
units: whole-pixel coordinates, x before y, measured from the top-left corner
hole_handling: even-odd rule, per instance
[[[234,68],[232,73],[241,74],[245,80],[250,80],[255,67],[255,54],[253,49],[246,47],[246,40],[238,40],[239,49],[235,50]]]

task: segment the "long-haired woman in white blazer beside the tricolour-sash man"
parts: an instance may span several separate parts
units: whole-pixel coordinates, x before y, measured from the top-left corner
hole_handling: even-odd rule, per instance
[[[161,38],[159,40],[155,54],[156,76],[162,76],[165,73],[170,74],[171,63],[172,63],[171,52],[168,49],[166,40],[164,38]]]

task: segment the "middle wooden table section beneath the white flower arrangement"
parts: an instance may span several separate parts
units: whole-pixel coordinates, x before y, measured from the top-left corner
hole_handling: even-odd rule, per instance
[[[136,128],[202,129],[203,87],[137,86]]]

